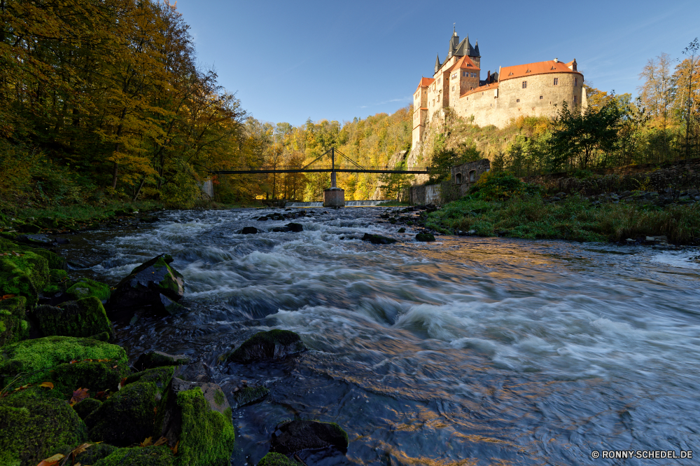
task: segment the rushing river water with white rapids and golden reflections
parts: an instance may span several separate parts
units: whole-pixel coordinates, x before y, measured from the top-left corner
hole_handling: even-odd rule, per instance
[[[277,423],[334,421],[347,454],[307,465],[683,465],[700,458],[700,262],[666,251],[564,241],[437,237],[379,224],[391,208],[307,210],[301,233],[271,210],[177,211],[83,233],[60,252],[77,276],[116,284],[168,253],[185,277],[179,317],[117,326],[144,350],[205,362],[233,411],[233,465],[255,465]],[[276,210],[275,212],[280,212]],[[400,239],[361,241],[363,233]],[[223,364],[256,331],[310,348]],[[694,459],[609,460],[593,451],[694,450]]]

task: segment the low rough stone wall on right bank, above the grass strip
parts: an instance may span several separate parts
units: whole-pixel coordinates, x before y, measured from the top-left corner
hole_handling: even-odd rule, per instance
[[[547,191],[582,193],[587,196],[619,191],[662,191],[664,189],[700,189],[700,158],[678,160],[661,165],[629,165],[595,170],[594,176],[578,179],[570,173],[545,174],[528,178]]]

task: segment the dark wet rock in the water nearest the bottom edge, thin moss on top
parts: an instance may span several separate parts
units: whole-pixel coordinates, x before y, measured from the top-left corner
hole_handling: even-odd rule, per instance
[[[292,420],[277,426],[272,434],[269,451],[293,455],[302,450],[335,447],[346,451],[348,435],[336,423],[318,423],[314,420]]]

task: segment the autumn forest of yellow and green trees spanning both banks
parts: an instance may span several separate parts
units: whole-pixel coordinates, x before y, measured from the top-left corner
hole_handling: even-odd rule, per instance
[[[165,207],[317,200],[327,174],[212,175],[302,167],[330,146],[364,166],[402,166],[412,107],[353,121],[258,121],[197,64],[189,27],[168,1],[0,1],[0,209],[115,200]],[[674,61],[675,60],[675,61]],[[503,129],[447,118],[423,162],[487,157],[519,177],[661,163],[700,155],[697,40],[640,72],[639,97],[587,88],[583,115],[520,118]],[[392,158],[393,157],[393,158]],[[346,199],[406,179],[339,174]]]

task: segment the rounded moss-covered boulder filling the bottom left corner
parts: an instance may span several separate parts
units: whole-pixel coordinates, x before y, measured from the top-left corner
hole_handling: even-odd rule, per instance
[[[87,440],[85,423],[64,400],[10,395],[0,401],[0,464],[36,466]]]

